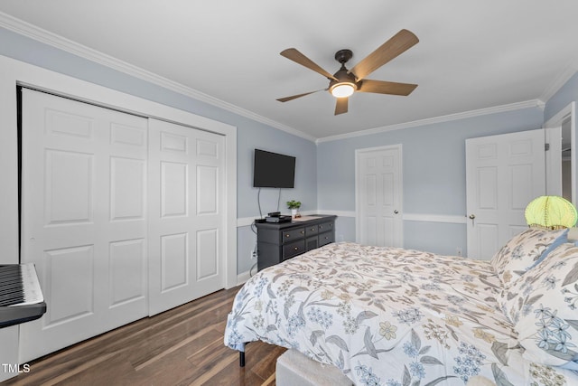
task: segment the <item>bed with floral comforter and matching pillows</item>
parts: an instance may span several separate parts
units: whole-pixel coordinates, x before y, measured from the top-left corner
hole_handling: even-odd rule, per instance
[[[566,233],[528,229],[491,260],[332,243],[250,278],[224,342],[293,349],[356,385],[577,385]]]

